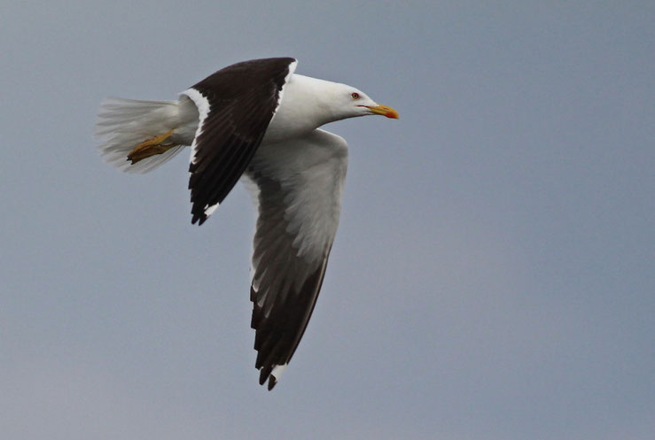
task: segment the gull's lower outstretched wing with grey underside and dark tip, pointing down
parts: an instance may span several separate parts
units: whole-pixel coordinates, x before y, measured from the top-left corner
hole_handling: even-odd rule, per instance
[[[271,390],[307,328],[339,224],[347,145],[315,130],[262,147],[246,176],[259,204],[254,235],[255,367]]]

